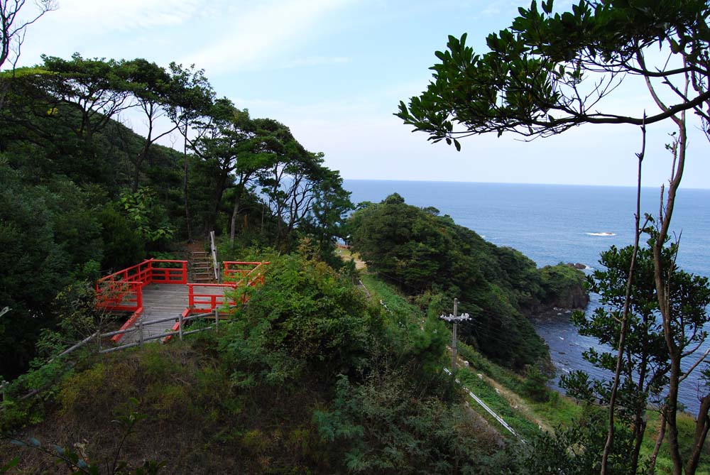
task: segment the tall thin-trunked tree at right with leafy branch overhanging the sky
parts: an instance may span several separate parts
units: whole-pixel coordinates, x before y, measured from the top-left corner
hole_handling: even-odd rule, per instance
[[[687,111],[699,116],[710,138],[710,5],[706,0],[586,1],[572,11],[553,13],[552,1],[520,9],[510,28],[487,38],[490,51],[476,55],[466,36],[449,36],[449,50],[437,52],[435,80],[420,97],[400,102],[398,115],[429,140],[445,140],[460,150],[463,136],[496,132],[525,137],[551,136],[580,124],[646,124],[669,119],[677,127],[670,149],[674,155],[667,198],[657,219],[653,246],[654,282],[663,334],[670,359],[670,382],[664,417],[669,427],[674,474],[683,471],[677,425],[677,393],[684,354],[672,333],[674,309],[667,298],[662,254],[682,180],[687,151]],[[660,55],[654,55],[660,50]],[[657,59],[657,62],[653,62]],[[619,86],[642,79],[657,107],[647,116],[624,116],[603,109],[605,99],[623,94]],[[672,103],[657,93],[667,88]],[[643,153],[640,154],[643,159]],[[638,236],[638,212],[636,234]],[[633,261],[632,261],[633,262]],[[626,314],[625,314],[626,315]],[[621,326],[626,332],[626,325]],[[624,351],[619,339],[618,361]],[[618,374],[618,371],[617,371]],[[618,381],[618,376],[615,377]],[[709,406],[710,407],[710,406]],[[708,414],[698,416],[696,444]],[[609,409],[608,443],[601,473],[613,442],[613,398]],[[694,473],[692,457],[686,473]]]

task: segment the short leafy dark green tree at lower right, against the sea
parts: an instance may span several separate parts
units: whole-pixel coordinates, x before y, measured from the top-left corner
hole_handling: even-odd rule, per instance
[[[652,234],[653,231],[651,231]],[[618,417],[632,428],[633,447],[629,456],[632,473],[638,468],[638,456],[645,430],[645,411],[652,401],[662,400],[662,390],[667,388],[670,371],[668,349],[658,308],[654,273],[654,237],[648,246],[638,250],[637,261],[632,275],[632,293],[628,312],[628,332],[623,353],[623,371],[620,383],[621,408]],[[707,278],[688,274],[674,264],[678,251],[677,244],[663,247],[663,261],[669,272],[671,289],[669,298],[674,307],[672,326],[678,346],[684,354],[691,356],[706,339],[703,326],[710,321],[706,306],[710,304],[710,285]],[[590,290],[601,295],[603,307],[598,307],[594,315],[586,317],[578,312],[573,321],[579,333],[595,337],[601,344],[618,348],[621,334],[621,314],[626,303],[626,283],[629,277],[633,246],[623,249],[612,247],[601,254],[602,269],[594,271],[589,279]],[[611,351],[590,349],[584,354],[594,366],[615,371],[616,355]],[[586,375],[574,373],[563,376],[562,386],[577,398],[608,403],[611,386],[606,381],[589,381]],[[684,374],[689,374],[686,371]],[[700,441],[702,445],[704,441]]]

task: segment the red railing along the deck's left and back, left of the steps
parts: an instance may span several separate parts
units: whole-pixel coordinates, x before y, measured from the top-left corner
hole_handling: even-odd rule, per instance
[[[179,267],[165,267],[161,264]],[[148,259],[100,278],[96,283],[99,306],[108,310],[136,312],[143,307],[143,287],[150,283],[186,284],[187,261]]]

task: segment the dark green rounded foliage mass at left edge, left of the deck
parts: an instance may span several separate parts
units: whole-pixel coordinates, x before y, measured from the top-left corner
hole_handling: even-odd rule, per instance
[[[16,376],[50,327],[59,288],[92,278],[101,259],[99,224],[82,191],[63,178],[34,185],[0,159],[0,374]],[[76,246],[77,241],[84,245]]]

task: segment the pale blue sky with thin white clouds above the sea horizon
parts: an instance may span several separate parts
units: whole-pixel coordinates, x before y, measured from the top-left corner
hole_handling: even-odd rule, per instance
[[[29,3],[29,2],[28,2]],[[411,133],[393,116],[431,80],[436,50],[468,33],[485,53],[489,33],[510,26],[527,0],[58,0],[31,26],[19,65],[40,55],[146,58],[202,68],[218,97],[252,117],[290,127],[305,148],[346,179],[633,186],[636,126],[581,126],[532,142],[495,134],[457,152]],[[555,2],[557,8],[569,2]],[[643,84],[611,107],[640,116]],[[129,121],[141,131],[140,120]],[[684,187],[708,188],[710,146],[690,119]],[[643,185],[670,175],[670,124],[648,129]]]

